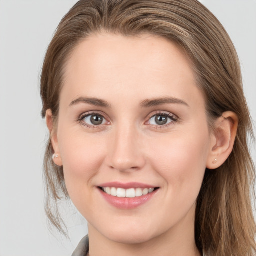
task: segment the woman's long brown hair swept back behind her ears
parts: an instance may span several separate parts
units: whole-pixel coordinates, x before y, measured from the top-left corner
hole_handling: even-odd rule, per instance
[[[253,137],[235,48],[216,17],[197,0],[80,0],[61,20],[48,47],[41,73],[42,116],[58,116],[66,60],[77,44],[101,31],[125,36],[150,33],[177,43],[193,62],[205,96],[209,127],[224,111],[239,119],[233,150],[216,170],[205,171],[197,198],[195,242],[207,255],[253,255],[255,221],[252,199],[254,166],[248,150]],[[63,168],[44,157],[46,212],[60,231],[58,201],[68,198]]]

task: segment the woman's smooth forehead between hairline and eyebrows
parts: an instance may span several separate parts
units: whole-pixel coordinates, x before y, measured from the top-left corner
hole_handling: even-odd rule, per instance
[[[90,35],[67,60],[61,94],[69,100],[89,95],[108,101],[109,93],[120,98],[140,95],[141,100],[166,93],[183,99],[194,93],[202,97],[191,62],[173,42],[149,34]]]

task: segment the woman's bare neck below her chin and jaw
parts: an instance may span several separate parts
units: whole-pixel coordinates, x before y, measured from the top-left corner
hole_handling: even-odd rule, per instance
[[[135,244],[111,240],[89,223],[88,230],[90,256],[200,256],[194,239],[194,213],[166,232]]]

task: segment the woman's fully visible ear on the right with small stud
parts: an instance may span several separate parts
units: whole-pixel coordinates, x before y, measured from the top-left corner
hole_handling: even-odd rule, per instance
[[[233,149],[238,126],[238,117],[234,112],[226,111],[215,121],[215,130],[211,134],[211,142],[206,162],[208,169],[221,166]]]

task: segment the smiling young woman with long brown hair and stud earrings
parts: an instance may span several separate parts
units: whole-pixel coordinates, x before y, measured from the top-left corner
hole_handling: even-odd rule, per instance
[[[253,255],[251,122],[238,57],[196,0],[81,0],[47,50],[47,214],[73,255]]]

